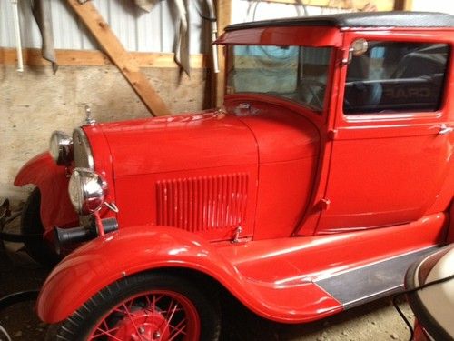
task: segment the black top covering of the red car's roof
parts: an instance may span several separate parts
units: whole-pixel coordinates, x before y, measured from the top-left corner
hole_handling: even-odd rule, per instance
[[[433,12],[355,12],[299,16],[229,25],[225,31],[265,26],[453,27],[454,16]]]

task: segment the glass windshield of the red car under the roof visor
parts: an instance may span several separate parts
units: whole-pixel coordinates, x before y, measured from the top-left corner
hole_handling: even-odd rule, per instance
[[[321,111],[331,47],[231,45],[227,94],[275,95]]]

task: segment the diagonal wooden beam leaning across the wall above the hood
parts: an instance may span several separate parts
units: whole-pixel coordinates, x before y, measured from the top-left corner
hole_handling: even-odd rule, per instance
[[[78,0],[67,0],[74,12],[82,19],[84,25],[92,33],[107,55],[112,59],[133,90],[142,99],[143,104],[152,115],[170,115],[163,99],[154,90],[147,77],[140,71],[137,62],[123,47],[110,26],[98,13],[91,1],[80,4]]]

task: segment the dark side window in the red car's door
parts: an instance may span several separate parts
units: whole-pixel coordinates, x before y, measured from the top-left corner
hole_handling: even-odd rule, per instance
[[[448,55],[447,44],[369,42],[348,65],[344,114],[438,110]]]

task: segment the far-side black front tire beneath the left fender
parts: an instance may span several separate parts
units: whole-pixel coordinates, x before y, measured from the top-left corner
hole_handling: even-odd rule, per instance
[[[23,235],[44,236],[44,226],[41,222],[41,192],[35,188],[28,196],[21,216],[20,229]],[[56,254],[54,247],[44,238],[25,241],[25,251],[37,263],[53,267],[58,263],[60,257]]]

